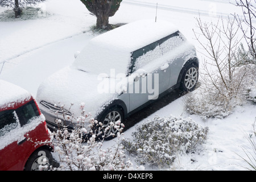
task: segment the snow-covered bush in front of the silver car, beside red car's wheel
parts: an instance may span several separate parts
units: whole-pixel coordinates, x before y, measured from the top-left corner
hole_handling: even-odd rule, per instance
[[[63,108],[62,106],[60,108]],[[71,116],[64,115],[65,119],[74,120]],[[56,122],[61,123],[61,119],[57,118]],[[90,131],[86,126],[94,126],[98,123],[89,114],[84,111],[84,104],[81,104],[81,116],[73,121],[76,123],[75,129],[68,131],[67,127],[59,127],[57,131],[53,131],[51,136],[55,146],[55,152],[59,159],[60,166],[53,168],[54,170],[69,171],[91,171],[91,170],[135,170],[143,169],[143,167],[133,167],[130,159],[126,159],[123,145],[121,144],[121,134],[118,133],[117,143],[110,148],[103,147],[104,139],[97,140],[96,133]],[[117,123],[118,125],[118,123]],[[121,131],[122,127],[118,127]]]

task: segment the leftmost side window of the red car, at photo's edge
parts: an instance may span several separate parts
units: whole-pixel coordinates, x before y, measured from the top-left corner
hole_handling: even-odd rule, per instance
[[[4,110],[0,112],[0,137],[9,133],[19,126],[15,110]]]

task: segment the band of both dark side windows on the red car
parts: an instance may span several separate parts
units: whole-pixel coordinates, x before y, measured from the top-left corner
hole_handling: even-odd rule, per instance
[[[20,106],[15,110],[4,110],[0,112],[0,137],[9,133],[16,127],[30,123],[33,118],[39,116],[38,108],[34,100]]]

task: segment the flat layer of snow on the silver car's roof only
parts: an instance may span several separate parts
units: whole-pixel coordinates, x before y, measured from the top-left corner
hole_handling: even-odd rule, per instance
[[[92,39],[92,42],[97,46],[103,43],[104,46],[132,52],[176,31],[177,28],[166,20],[137,20],[101,34]]]

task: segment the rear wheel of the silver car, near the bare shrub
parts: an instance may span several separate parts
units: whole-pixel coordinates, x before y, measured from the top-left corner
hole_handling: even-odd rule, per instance
[[[199,77],[198,67],[195,64],[190,64],[185,69],[181,78],[181,89],[184,92],[190,92],[195,89]]]

